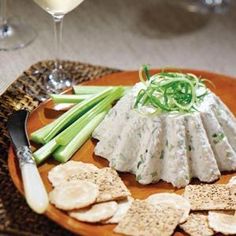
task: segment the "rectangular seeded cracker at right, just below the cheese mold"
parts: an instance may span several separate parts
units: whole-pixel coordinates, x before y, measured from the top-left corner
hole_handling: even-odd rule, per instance
[[[191,210],[236,210],[236,199],[225,184],[188,185],[183,196]]]

